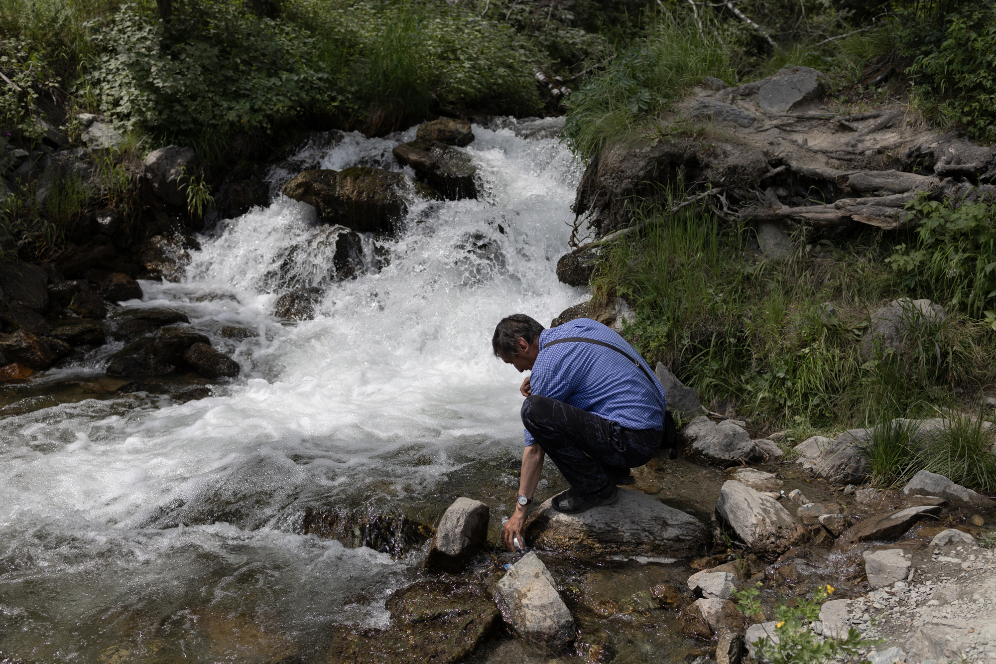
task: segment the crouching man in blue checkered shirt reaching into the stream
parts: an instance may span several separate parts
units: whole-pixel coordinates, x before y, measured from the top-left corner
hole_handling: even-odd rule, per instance
[[[617,485],[632,484],[629,469],[660,448],[664,389],[633,348],[590,318],[546,330],[525,314],[503,318],[491,345],[519,372],[531,370],[519,391],[526,449],[515,513],[502,531],[509,550],[533,501],[544,457],[571,485],[553,506],[578,513],[619,498]]]

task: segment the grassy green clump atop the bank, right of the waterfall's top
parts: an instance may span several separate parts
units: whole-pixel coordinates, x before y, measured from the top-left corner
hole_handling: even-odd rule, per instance
[[[690,19],[663,14],[645,39],[568,98],[565,133],[576,153],[591,158],[608,145],[648,135],[706,76],[732,82],[733,74],[718,24],[700,30]]]

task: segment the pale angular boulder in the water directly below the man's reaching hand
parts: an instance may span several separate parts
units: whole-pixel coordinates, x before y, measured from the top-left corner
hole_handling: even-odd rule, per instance
[[[502,617],[523,639],[557,649],[575,638],[574,618],[550,570],[530,551],[495,585]]]

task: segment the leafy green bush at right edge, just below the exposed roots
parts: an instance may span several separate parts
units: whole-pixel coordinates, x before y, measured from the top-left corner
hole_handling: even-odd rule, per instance
[[[917,198],[906,205],[922,217],[915,244],[886,258],[907,289],[981,318],[996,297],[996,217],[990,203]]]

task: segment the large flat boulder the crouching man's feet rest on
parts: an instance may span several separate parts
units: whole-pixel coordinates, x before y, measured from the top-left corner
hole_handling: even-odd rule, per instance
[[[526,536],[535,546],[563,555],[681,557],[701,550],[708,538],[705,524],[691,514],[627,489],[620,490],[615,504],[580,514],[559,512],[552,500],[530,517]]]

